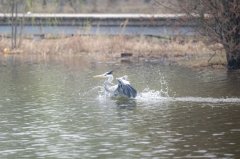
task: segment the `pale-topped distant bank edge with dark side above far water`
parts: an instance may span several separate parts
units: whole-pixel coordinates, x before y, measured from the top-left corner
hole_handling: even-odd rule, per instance
[[[184,14],[0,14],[0,25],[32,26],[197,26],[198,18]]]

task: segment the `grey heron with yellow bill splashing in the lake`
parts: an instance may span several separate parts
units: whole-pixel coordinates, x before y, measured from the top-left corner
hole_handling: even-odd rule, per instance
[[[114,85],[113,81],[113,71],[106,72],[101,75],[94,76],[95,78],[105,78],[104,89],[112,97],[128,97],[135,98],[137,96],[137,91],[130,85],[130,82],[127,80],[127,76],[116,78],[117,84]]]

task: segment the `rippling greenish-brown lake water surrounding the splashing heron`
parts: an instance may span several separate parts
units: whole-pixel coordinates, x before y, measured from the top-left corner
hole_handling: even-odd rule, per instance
[[[114,70],[138,90],[105,97]],[[0,158],[240,158],[240,73],[1,56]]]

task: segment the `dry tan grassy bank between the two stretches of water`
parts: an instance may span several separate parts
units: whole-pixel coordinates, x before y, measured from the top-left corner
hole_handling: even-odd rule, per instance
[[[2,38],[0,50],[4,54],[87,55],[99,61],[119,60],[127,53],[132,61],[223,68],[226,59],[221,46],[207,45],[204,41],[180,37],[73,36],[43,40],[23,39],[18,50],[10,51],[8,48],[11,40]]]

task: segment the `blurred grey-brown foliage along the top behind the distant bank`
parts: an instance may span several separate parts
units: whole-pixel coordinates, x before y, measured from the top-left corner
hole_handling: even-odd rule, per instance
[[[177,0],[0,0],[2,13],[11,12],[11,3],[18,3],[18,12],[31,13],[175,13]],[[171,8],[171,9],[169,9]]]

